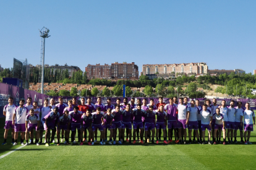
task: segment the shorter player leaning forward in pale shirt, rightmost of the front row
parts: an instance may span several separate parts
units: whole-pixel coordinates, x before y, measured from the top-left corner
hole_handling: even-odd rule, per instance
[[[216,108],[216,113],[213,113],[213,117],[215,117],[213,144],[217,144],[218,142],[218,141],[216,142],[216,137],[217,139],[218,137],[219,139],[221,139],[221,131],[223,131],[223,145],[226,145],[225,122],[224,122],[224,116],[220,113],[220,108]]]

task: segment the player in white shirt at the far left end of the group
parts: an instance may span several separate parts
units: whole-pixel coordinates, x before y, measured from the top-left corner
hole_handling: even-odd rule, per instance
[[[4,107],[4,111],[3,111],[3,115],[6,116],[6,124],[4,126],[4,142],[2,143],[2,145],[6,145],[6,139],[8,136],[8,131],[11,127],[12,129],[12,144],[14,144],[14,125],[12,124],[12,116],[14,114],[14,110],[17,107],[16,105],[14,105],[13,103],[14,99],[12,97],[9,97],[8,99],[8,105],[6,105]]]

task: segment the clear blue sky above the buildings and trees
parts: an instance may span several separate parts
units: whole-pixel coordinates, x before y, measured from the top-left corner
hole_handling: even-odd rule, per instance
[[[256,1],[1,1],[0,64],[207,62],[256,70]]]

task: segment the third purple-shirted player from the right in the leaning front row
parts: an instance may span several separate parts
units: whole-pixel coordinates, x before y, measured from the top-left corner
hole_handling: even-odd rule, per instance
[[[133,111],[133,115],[134,115],[134,142],[133,144],[136,143],[136,132],[137,132],[137,129],[140,130],[140,143],[143,144],[143,131],[144,131],[144,126],[143,126],[143,123],[142,123],[142,116],[144,115],[145,113],[145,110],[142,110],[141,109],[142,106],[139,104],[137,105],[137,108],[134,109]]]

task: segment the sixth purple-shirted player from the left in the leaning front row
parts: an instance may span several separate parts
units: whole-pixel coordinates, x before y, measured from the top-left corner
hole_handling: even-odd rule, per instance
[[[112,121],[113,121],[114,115],[111,114],[111,110],[112,110],[111,108],[108,108],[107,113],[103,116],[104,118],[103,128],[104,128],[104,134],[105,134],[104,136],[106,137],[106,134],[107,134],[106,129],[110,131],[109,142],[108,142],[109,145],[112,145],[111,140],[113,137]],[[103,142],[103,144],[105,145],[105,142]]]

